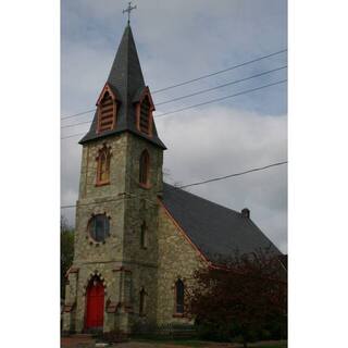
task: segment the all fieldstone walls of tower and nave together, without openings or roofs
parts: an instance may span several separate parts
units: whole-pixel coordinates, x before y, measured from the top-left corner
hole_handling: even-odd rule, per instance
[[[111,147],[110,184],[96,186],[98,150]],[[139,157],[150,154],[150,185],[138,183]],[[130,332],[138,323],[186,322],[174,318],[174,283],[190,282],[201,257],[162,207],[163,150],[130,133],[88,142],[83,148],[79,199],[76,209],[74,262],[66,285],[63,330],[84,332],[86,288],[94,275],[104,285],[103,332]],[[110,219],[103,243],[88,233],[94,214]],[[146,222],[146,248],[140,228]],[[145,315],[139,294],[146,291]]]

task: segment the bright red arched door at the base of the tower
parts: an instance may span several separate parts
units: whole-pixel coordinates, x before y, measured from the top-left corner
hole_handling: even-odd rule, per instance
[[[86,328],[102,327],[104,319],[104,288],[92,281],[87,289]]]

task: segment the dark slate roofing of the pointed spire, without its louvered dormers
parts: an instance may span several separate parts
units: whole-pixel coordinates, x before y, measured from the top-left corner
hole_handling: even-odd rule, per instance
[[[165,145],[161,141],[157,134],[154,122],[152,126],[152,137],[138,132],[136,127],[134,102],[139,100],[139,97],[145,90],[146,85],[129,25],[126,26],[123,33],[123,37],[107,83],[115,94],[119,102],[116,127],[113,130],[107,130],[102,134],[97,134],[96,112],[88,133],[79,140],[79,144],[85,144],[97,138],[102,138],[109,135],[128,130],[165,149]]]

